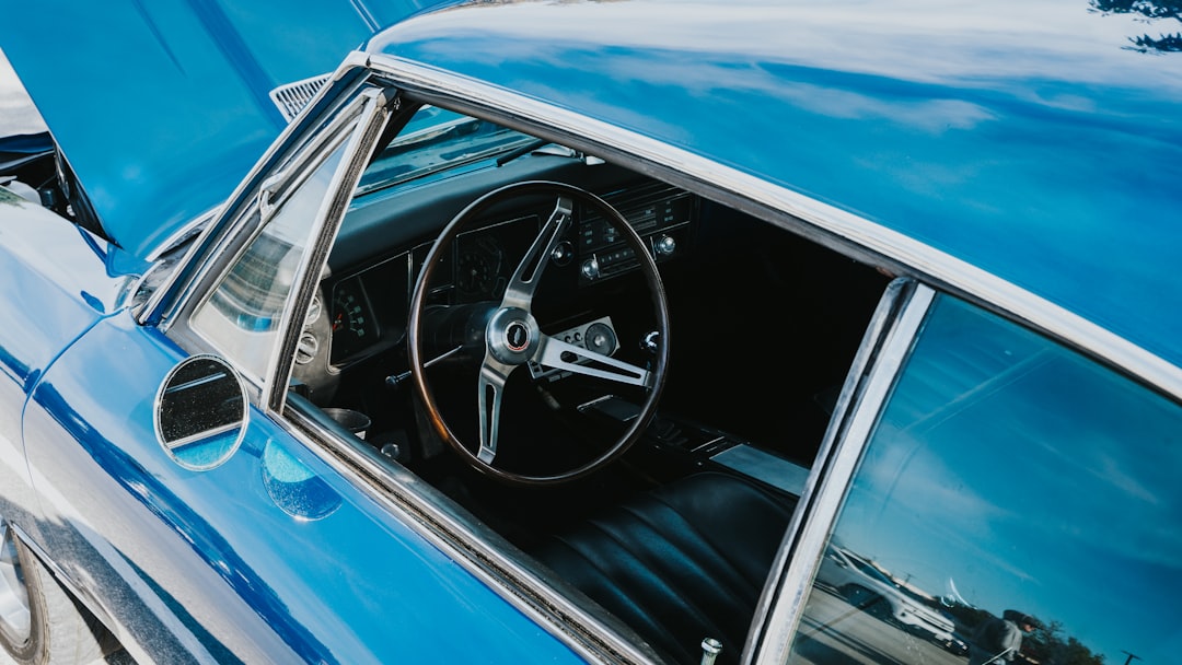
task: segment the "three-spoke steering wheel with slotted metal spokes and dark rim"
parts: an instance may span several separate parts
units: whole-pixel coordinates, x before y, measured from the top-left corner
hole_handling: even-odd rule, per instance
[[[448,252],[462,229],[480,219],[489,208],[519,197],[554,197],[557,203],[550,217],[525,256],[509,278],[505,295],[500,301],[478,306],[428,307],[431,279],[448,256]],[[543,198],[545,200],[545,198]],[[570,344],[541,331],[534,318],[534,295],[543,273],[557,257],[560,241],[574,222],[576,202],[605,220],[617,237],[623,239],[635,254],[648,285],[651,306],[656,318],[657,335],[649,351],[652,359],[645,367],[621,361],[610,356]],[[558,250],[558,254],[561,254]],[[441,321],[446,321],[441,324]],[[669,359],[669,307],[657,273],[656,263],[644,241],[632,229],[623,215],[598,196],[558,182],[530,181],[509,184],[485,194],[468,204],[443,228],[435,240],[415,282],[410,304],[408,326],[410,372],[415,391],[426,410],[431,429],[469,465],[495,480],[509,484],[554,484],[584,477],[623,455],[644,432],[656,411],[656,403],[665,380]],[[446,328],[444,332],[440,332]],[[446,345],[439,343],[447,338]],[[427,345],[452,346],[442,356],[462,351],[461,356],[479,361],[480,372],[474,387],[475,408],[479,409],[479,441],[466,445],[448,426],[436,396],[427,379],[427,366],[442,356],[427,357]],[[506,382],[511,373],[528,363],[565,372],[595,377],[638,386],[643,404],[638,413],[629,420],[619,438],[597,452],[590,462],[558,472],[541,475],[524,474],[496,465],[500,441],[501,409],[505,404]],[[526,369],[525,371],[528,371]],[[461,390],[467,390],[461,386]]]

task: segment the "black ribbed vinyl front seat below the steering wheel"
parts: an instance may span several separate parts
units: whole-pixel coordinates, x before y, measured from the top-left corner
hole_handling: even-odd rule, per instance
[[[722,643],[736,663],[795,500],[754,481],[701,472],[613,507],[538,552],[563,579],[673,663]]]

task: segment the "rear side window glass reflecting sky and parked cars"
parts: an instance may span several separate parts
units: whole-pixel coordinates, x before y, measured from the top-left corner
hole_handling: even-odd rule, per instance
[[[1168,663],[1182,409],[934,304],[849,487],[790,663]]]

